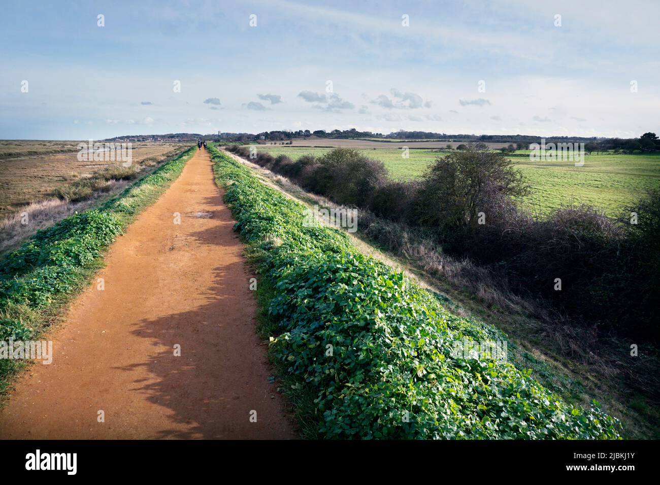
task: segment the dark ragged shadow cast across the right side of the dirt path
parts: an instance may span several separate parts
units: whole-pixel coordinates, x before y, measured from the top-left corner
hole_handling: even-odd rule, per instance
[[[203,203],[218,204],[224,204],[220,193]],[[186,236],[232,253],[242,250],[229,210],[204,210],[218,224]],[[296,437],[288,408],[277,393],[279,381],[269,382],[267,349],[255,333],[256,306],[244,262],[217,265],[212,272],[213,284],[197,295],[201,303],[194,309],[135,323],[131,333],[149,339],[154,354],[116,369],[150,376],[135,379],[129,392],[145,394],[172,422],[154,437]],[[174,355],[175,344],[181,356]],[[256,412],[256,422],[250,420],[251,412]]]

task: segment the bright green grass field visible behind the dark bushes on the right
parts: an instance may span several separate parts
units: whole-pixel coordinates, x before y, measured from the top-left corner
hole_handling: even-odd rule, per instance
[[[332,148],[306,146],[260,146],[273,156],[285,154],[296,160],[304,154],[321,156]],[[366,156],[382,160],[392,178],[411,179],[424,174],[426,168],[446,150],[411,148],[403,158],[399,148],[360,150]],[[547,214],[562,205],[586,204],[603,209],[609,216],[634,203],[647,189],[660,187],[660,155],[592,154],[585,156],[584,166],[574,162],[533,161],[529,151],[511,157],[518,162],[531,186],[532,194],[523,204]]]

